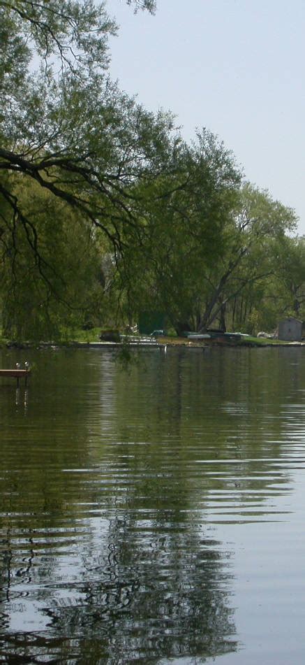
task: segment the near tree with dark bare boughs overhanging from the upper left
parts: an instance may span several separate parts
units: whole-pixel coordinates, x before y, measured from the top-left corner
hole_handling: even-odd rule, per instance
[[[151,0],[128,4],[154,10]],[[41,224],[21,192],[49,192],[54,217],[58,206],[71,224],[82,218],[87,232],[99,229],[114,258],[121,257],[125,227],[137,231],[135,183],[141,181],[144,196],[151,180],[171,169],[173,121],[148,113],[110,82],[107,37],[116,26],[103,3],[0,0],[0,15],[3,273],[13,248],[14,257],[23,253],[25,263],[34,262],[56,298],[61,266],[48,255]],[[20,270],[15,259],[10,268],[17,264]]]

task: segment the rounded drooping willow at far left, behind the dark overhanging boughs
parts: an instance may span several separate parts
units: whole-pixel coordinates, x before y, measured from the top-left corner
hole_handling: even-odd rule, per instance
[[[98,317],[105,304],[98,238],[77,211],[36,183],[22,179],[13,191],[29,224],[35,224],[39,252],[31,250],[27,227],[18,220],[11,232],[3,227],[3,334],[58,338],[65,327],[80,327],[93,315]]]

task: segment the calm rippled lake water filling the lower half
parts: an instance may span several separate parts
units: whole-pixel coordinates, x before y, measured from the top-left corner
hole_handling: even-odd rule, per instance
[[[302,348],[0,353],[0,662],[303,665]]]

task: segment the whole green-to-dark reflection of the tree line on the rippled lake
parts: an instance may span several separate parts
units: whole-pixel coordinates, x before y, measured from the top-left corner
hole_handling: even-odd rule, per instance
[[[230,552],[209,524],[257,520],[287,485],[286,381],[264,358],[154,355],[130,380],[109,355],[59,354],[27,408],[0,394],[1,662],[237,650]]]

